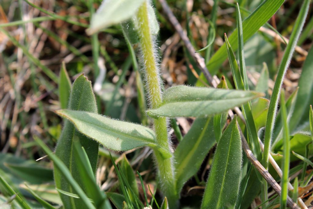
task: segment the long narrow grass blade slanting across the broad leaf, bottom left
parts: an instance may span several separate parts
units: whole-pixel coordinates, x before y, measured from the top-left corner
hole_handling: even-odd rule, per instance
[[[58,168],[58,170],[64,177],[64,180],[69,182],[73,190],[78,194],[78,196],[82,200],[82,203],[85,205],[85,207],[88,209],[95,209],[95,206],[90,202],[89,198],[87,197],[85,192],[82,190],[80,185],[74,180],[73,176],[71,175],[71,172],[69,171],[67,166],[62,162],[62,160],[59,159],[55,154],[52,154],[52,151],[39,138],[34,138],[34,140],[44,150],[44,152],[48,154],[50,159],[54,162],[54,166]]]

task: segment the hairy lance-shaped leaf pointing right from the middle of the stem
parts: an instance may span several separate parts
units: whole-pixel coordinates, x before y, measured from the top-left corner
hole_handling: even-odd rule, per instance
[[[254,91],[236,91],[206,87],[174,86],[164,92],[163,103],[147,111],[152,118],[207,117],[227,111],[262,96]]]

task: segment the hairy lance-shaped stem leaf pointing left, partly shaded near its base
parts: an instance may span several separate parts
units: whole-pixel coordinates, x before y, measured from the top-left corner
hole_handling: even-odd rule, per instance
[[[69,119],[77,130],[108,149],[125,151],[150,146],[159,150],[165,158],[172,156],[169,150],[156,144],[155,133],[150,128],[113,120],[91,112],[59,110],[56,113]]]

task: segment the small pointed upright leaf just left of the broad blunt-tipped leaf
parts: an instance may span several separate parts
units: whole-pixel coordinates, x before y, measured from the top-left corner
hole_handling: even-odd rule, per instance
[[[62,62],[62,67],[59,76],[59,101],[61,109],[67,108],[71,88],[72,84],[69,79],[69,75],[67,74],[65,63]]]

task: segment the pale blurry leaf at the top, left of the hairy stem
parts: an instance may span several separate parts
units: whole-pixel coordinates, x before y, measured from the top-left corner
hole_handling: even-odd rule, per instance
[[[145,0],[104,0],[92,16],[88,35],[131,18]]]

